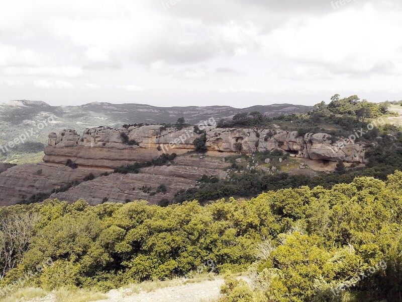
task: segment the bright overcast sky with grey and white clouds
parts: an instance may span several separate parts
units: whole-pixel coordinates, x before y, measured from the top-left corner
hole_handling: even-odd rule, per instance
[[[0,1],[0,102],[402,100],[400,0]]]

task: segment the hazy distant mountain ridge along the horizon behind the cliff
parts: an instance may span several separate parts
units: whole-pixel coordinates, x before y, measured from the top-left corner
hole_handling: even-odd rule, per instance
[[[258,111],[269,117],[282,114],[307,113],[312,106],[273,104],[258,105],[248,108],[233,108],[230,106],[188,106],[188,107],[156,107],[146,104],[112,104],[93,102],[80,106],[51,106],[42,101],[15,100],[0,104],[0,144],[4,145],[24,133],[31,127],[36,127],[41,121],[54,117],[54,122],[44,129],[37,129],[35,135],[29,138],[31,142],[47,142],[50,132],[62,129],[76,129],[82,132],[86,128],[109,126],[118,128],[123,124],[134,123],[175,123],[179,117],[184,117],[189,124],[213,117],[231,119],[235,114]],[[27,148],[27,144],[12,148],[10,153],[37,152]],[[0,159],[5,154],[0,154]]]

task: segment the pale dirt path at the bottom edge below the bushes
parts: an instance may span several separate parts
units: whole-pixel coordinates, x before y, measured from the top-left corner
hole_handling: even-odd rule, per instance
[[[160,288],[151,292],[142,292],[129,297],[122,297],[123,292],[118,289],[111,290],[107,300],[98,302],[197,302],[212,301],[219,297],[222,279],[187,283],[185,285]]]

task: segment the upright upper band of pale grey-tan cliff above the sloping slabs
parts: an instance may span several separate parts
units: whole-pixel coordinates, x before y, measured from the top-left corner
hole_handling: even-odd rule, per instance
[[[254,153],[282,149],[292,157],[312,160],[363,163],[365,146],[350,143],[342,148],[326,133],[307,133],[270,129],[222,129],[206,127],[209,151]],[[74,130],[49,134],[44,161],[64,164],[71,159],[82,167],[116,168],[136,161],[148,161],[162,153],[183,154],[194,149],[200,137],[193,128],[160,129],[158,125],[113,129],[86,129],[82,136]]]

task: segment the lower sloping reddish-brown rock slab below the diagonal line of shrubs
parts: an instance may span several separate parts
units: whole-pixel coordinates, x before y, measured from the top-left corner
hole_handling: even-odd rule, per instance
[[[183,155],[174,160],[172,166],[149,167],[141,169],[140,174],[111,174],[91,181],[81,183],[78,186],[62,193],[52,194],[50,198],[58,198],[68,202],[74,202],[79,198],[88,201],[89,204],[99,204],[103,201],[125,202],[144,199],[151,204],[157,204],[162,199],[173,200],[174,195],[195,185],[202,175],[217,175],[226,178],[227,173],[222,171],[227,167],[219,158],[199,159],[196,156]],[[167,192],[155,195],[159,185],[165,185]],[[141,188],[148,187],[149,192],[143,192]]]

